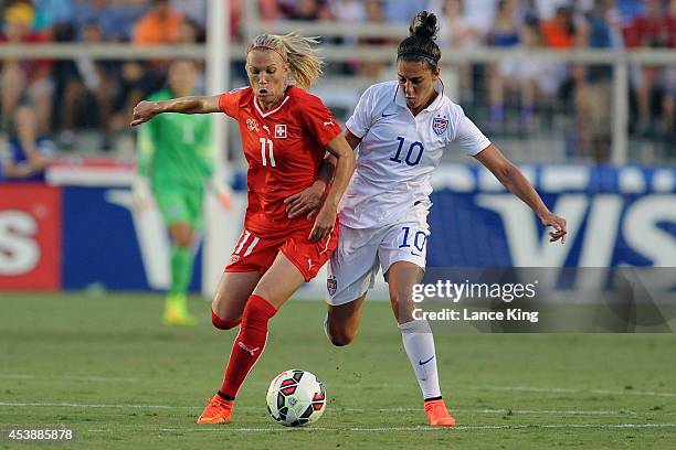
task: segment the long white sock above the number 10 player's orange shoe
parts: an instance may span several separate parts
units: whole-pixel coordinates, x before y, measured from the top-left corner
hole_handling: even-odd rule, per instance
[[[401,323],[399,330],[423,397],[425,399],[441,397],[434,336],[430,324],[426,320],[414,320]]]

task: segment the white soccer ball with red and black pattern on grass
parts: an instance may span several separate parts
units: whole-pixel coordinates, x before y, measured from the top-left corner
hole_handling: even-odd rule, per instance
[[[297,368],[282,372],[267,389],[267,411],[285,427],[316,421],[325,406],[324,384],[309,372]]]

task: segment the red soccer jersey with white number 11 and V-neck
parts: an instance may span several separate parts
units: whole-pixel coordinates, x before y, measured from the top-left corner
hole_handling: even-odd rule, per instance
[[[314,219],[287,217],[284,200],[317,180],[325,147],[341,131],[332,114],[319,97],[296,86],[265,113],[251,87],[222,94],[219,108],[240,125],[249,162],[244,227],[263,236],[311,228]]]

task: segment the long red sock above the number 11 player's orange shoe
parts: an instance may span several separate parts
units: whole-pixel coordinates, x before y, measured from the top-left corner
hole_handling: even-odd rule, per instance
[[[221,393],[234,398],[244,378],[261,357],[267,341],[267,321],[277,310],[263,297],[251,296],[244,307],[240,333],[235,338],[223,377]]]

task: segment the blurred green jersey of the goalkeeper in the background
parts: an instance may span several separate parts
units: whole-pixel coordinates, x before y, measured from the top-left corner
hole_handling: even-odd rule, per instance
[[[173,98],[168,89],[148,98]],[[140,127],[138,171],[155,190],[202,188],[213,173],[215,147],[209,115],[161,114]]]

